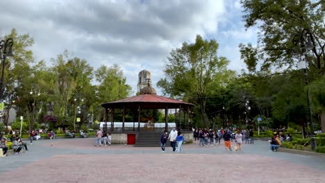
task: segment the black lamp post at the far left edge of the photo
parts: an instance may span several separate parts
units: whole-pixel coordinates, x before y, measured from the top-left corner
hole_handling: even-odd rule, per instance
[[[0,100],[3,99],[3,88],[4,88],[3,78],[4,78],[4,69],[6,67],[6,58],[8,56],[13,56],[12,45],[13,45],[13,40],[10,37],[0,41],[0,59],[1,59],[1,66],[2,66],[1,80],[0,80]]]

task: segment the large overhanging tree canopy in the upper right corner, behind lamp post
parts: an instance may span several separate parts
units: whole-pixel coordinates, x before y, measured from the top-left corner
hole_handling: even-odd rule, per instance
[[[310,69],[325,73],[324,53],[324,1],[322,0],[241,0],[244,12],[245,27],[258,25],[260,34],[259,45],[256,48],[258,55],[255,58],[262,60],[262,68],[272,66],[291,68],[295,65],[292,59],[294,44],[292,40],[303,30],[309,30],[311,41],[315,46],[312,50]],[[241,46],[242,50],[251,46]],[[256,53],[253,51],[252,53]],[[243,56],[243,52],[242,52]],[[248,58],[254,58],[248,57]],[[257,60],[255,60],[257,61]],[[254,59],[247,59],[250,66],[256,66]]]

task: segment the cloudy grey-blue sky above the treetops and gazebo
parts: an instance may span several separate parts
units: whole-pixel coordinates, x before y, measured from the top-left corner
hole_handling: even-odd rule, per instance
[[[35,39],[37,60],[63,53],[101,64],[119,64],[133,92],[138,72],[163,77],[169,51],[196,35],[219,42],[219,55],[240,72],[238,44],[256,44],[257,28],[245,30],[240,0],[10,0],[0,1],[0,36],[16,28]]]

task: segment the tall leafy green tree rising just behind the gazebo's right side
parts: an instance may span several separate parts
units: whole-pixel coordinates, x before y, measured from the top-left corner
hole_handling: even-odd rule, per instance
[[[228,60],[217,55],[219,44],[215,40],[203,40],[197,35],[194,44],[184,42],[173,49],[165,67],[165,76],[158,82],[164,94],[182,98],[200,106],[201,123],[208,128],[206,101],[215,80],[228,74]],[[224,82],[219,83],[219,85]]]

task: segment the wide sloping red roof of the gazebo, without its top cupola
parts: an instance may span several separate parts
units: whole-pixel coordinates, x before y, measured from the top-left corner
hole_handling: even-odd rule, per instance
[[[142,94],[138,96],[131,96],[119,101],[113,101],[110,103],[104,103],[101,105],[106,108],[136,108],[140,106],[142,109],[165,109],[167,108],[179,108],[179,107],[192,107],[191,103],[185,103],[183,101],[177,101],[172,98],[164,96],[158,96],[156,94]]]

